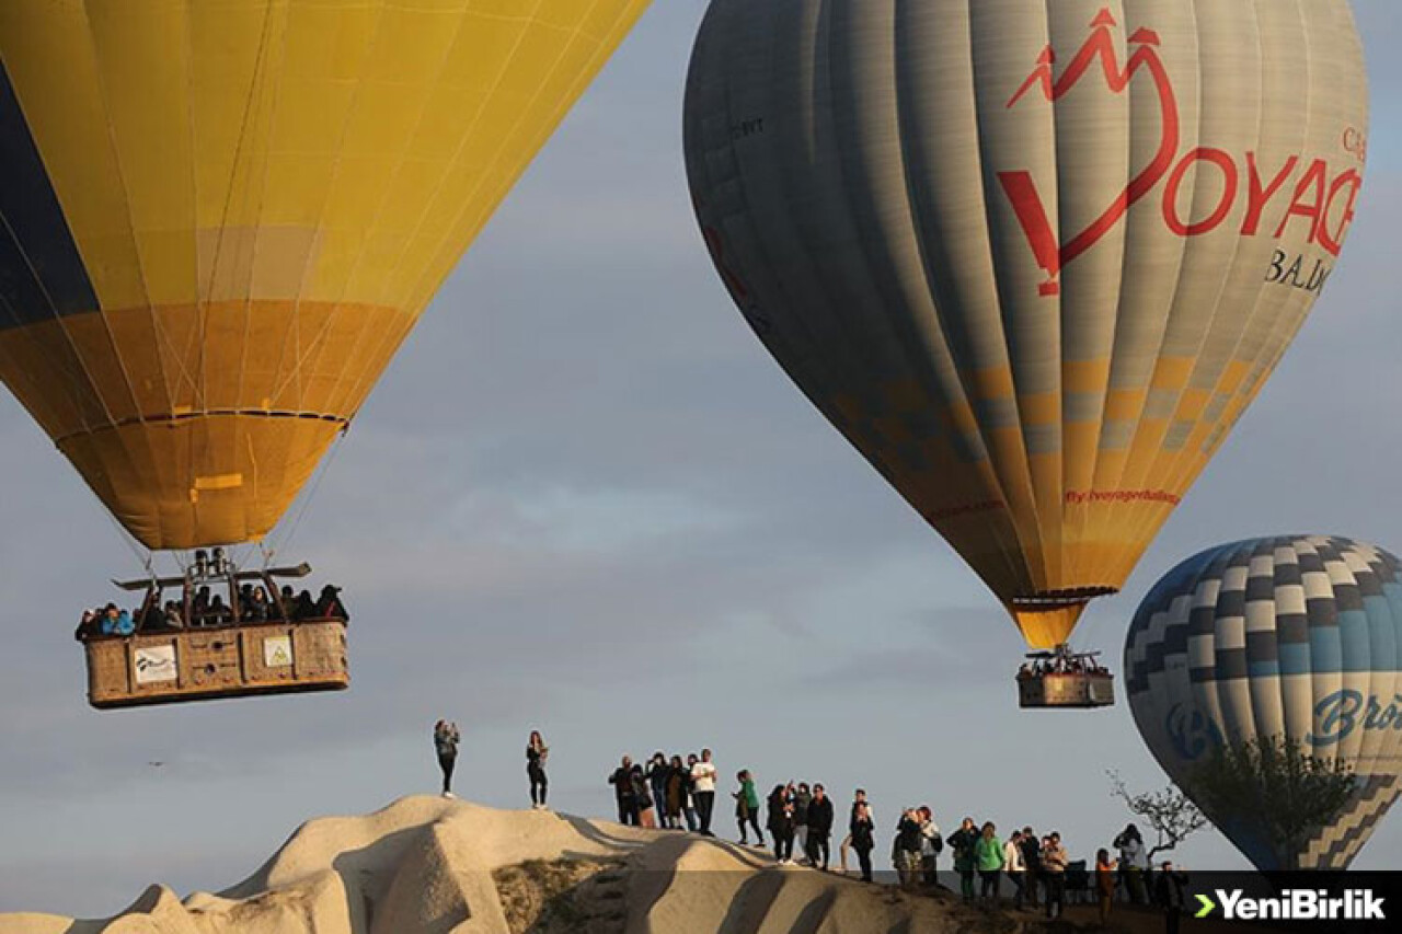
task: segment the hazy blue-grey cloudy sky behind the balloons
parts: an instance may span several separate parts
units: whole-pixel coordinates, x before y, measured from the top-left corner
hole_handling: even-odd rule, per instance
[[[105,916],[147,884],[250,875],[301,822],[433,794],[430,729],[463,729],[456,788],[613,811],[622,753],[711,746],[761,788],[869,790],[1060,829],[1094,854],[1129,819],[1106,770],[1166,783],[1127,704],[1019,712],[1021,639],[953,551],[754,339],[695,230],[681,95],[702,0],[659,0],[444,283],[278,558],[346,588],[349,691],[100,714],[80,609],[140,562],[0,394],[0,912]],[[1354,0],[1368,177],[1339,269],[1262,397],[1123,595],[1078,639],[1117,662],[1173,564],[1258,534],[1402,548],[1402,10]],[[22,495],[21,492],[22,491]],[[161,762],[163,766],[151,766]],[[722,798],[725,799],[725,798]],[[730,830],[729,811],[718,826]],[[1244,862],[1214,830],[1180,848]],[[1402,868],[1402,818],[1357,868]]]

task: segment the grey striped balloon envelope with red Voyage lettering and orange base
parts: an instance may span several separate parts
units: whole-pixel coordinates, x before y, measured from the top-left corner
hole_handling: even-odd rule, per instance
[[[1323,289],[1366,97],[1345,0],[712,0],[686,164],[758,338],[1052,648]]]

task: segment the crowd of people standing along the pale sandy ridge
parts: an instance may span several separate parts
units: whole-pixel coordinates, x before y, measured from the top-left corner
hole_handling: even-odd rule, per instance
[[[439,721],[433,743],[443,771],[443,794],[450,783],[460,733],[456,724]],[[540,731],[531,731],[526,745],[526,774],[533,808],[545,806],[545,762],[550,749]],[[653,753],[645,763],[622,756],[607,776],[618,809],[618,822],[637,827],[688,830],[714,837],[711,829],[719,783],[714,754]],[[735,774],[735,822],[740,846],[773,846],[781,865],[799,864],[829,871],[836,805],[822,783],[775,784],[761,801],[749,769]],[[760,818],[764,823],[760,823]],[[872,853],[876,850],[876,816],[866,792],[858,788],[847,809],[847,832],[838,844],[838,871],[848,872],[850,854],[857,855],[862,881],[872,882]],[[770,843],[765,844],[765,832]],[[753,837],[753,840],[751,840]],[[1136,905],[1155,905],[1168,930],[1176,931],[1183,912],[1187,875],[1171,861],[1150,867],[1144,839],[1133,823],[1120,832],[1112,847],[1096,853],[1094,865],[1073,860],[1057,830],[1037,833],[1030,826],[1014,829],[1007,839],[993,820],[966,816],[948,837],[942,836],[928,805],[906,808],[894,826],[892,865],[903,889],[916,891],[939,884],[939,857],[948,848],[959,877],[959,893],[966,903],[994,906],[1002,902],[1004,878],[1012,886],[1015,910],[1043,910],[1057,919],[1068,896],[1099,903],[1102,924],[1109,921],[1116,898]],[[799,854],[795,857],[795,851]]]

